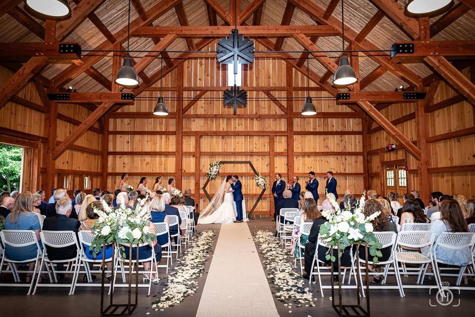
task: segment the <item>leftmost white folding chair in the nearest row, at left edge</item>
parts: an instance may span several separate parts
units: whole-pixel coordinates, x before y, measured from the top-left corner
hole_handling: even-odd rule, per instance
[[[2,272],[3,264],[8,264],[10,266],[10,272],[13,275],[13,279],[15,280],[16,283],[14,284],[0,284],[1,286],[9,286],[9,287],[16,287],[16,286],[21,286],[25,287],[28,286],[28,293],[27,295],[31,294],[31,290],[33,288],[33,284],[35,283],[35,275],[37,270],[40,270],[38,274],[41,273],[41,269],[38,269],[38,263],[40,261],[40,257],[43,255],[41,248],[40,248],[40,243],[38,242],[38,239],[36,237],[36,233],[33,230],[2,230],[0,231],[0,238],[1,242],[3,243],[3,246],[8,246],[8,248],[21,248],[21,247],[27,247],[31,245],[36,245],[38,248],[38,252],[36,254],[35,258],[27,259],[24,261],[16,261],[16,260],[11,260],[6,257],[5,250],[2,252],[1,256],[1,263],[0,263],[0,274]],[[15,264],[22,264],[22,263],[31,263],[35,262],[35,266],[33,268],[33,271],[18,271],[16,269]],[[19,283],[20,282],[20,276],[19,273],[33,273],[31,277],[31,282],[30,283]],[[51,277],[50,277],[51,278]]]

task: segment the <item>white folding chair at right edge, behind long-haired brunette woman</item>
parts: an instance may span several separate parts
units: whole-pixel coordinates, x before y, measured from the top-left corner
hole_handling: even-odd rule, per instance
[[[457,276],[456,286],[460,285],[462,277],[464,275],[465,269],[467,266],[475,268],[474,259],[473,259],[473,250],[475,244],[475,233],[474,232],[443,232],[437,237],[437,241],[434,246],[434,263],[435,263],[435,273],[437,274],[437,279],[442,283],[441,275],[445,276]],[[465,266],[460,266],[458,274],[443,274],[439,269],[439,263],[448,264],[452,266],[459,266],[453,262],[445,262],[440,259],[437,259],[437,253],[441,252],[441,248],[453,250],[454,252],[468,249],[470,251],[470,263]]]

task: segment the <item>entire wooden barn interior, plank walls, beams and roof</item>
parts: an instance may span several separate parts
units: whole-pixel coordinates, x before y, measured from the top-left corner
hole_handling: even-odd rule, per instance
[[[321,197],[332,170],[340,197],[375,189],[400,198],[419,190],[425,202],[436,190],[475,198],[471,0],[433,18],[406,16],[402,0],[345,1],[343,48],[359,79],[347,87],[332,85],[342,55],[338,0],[132,0],[130,46],[128,1],[69,2],[64,21],[38,19],[22,0],[0,4],[0,141],[25,149],[22,190],[113,192],[123,172],[134,187],[160,175],[190,188],[202,209],[209,164],[243,160],[268,184],[276,173],[303,183],[313,170]],[[216,58],[234,28],[255,48],[240,72],[248,101],[237,114],[223,106],[228,65]],[[391,56],[395,43],[415,53]],[[60,54],[61,44],[82,53]],[[114,81],[128,50],[136,87]],[[426,95],[405,99],[410,92]],[[61,93],[69,100],[48,98]],[[341,93],[350,97],[336,100]],[[301,114],[308,94],[313,116]],[[160,96],[168,116],[152,113]],[[226,174],[241,176],[250,210],[261,192],[254,172],[227,164]],[[273,210],[268,188],[253,216]]]

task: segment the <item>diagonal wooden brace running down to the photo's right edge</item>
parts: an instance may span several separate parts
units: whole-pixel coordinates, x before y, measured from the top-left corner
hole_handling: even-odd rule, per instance
[[[475,106],[475,84],[465,77],[443,56],[427,56],[424,60],[446,80],[455,91],[460,92]]]

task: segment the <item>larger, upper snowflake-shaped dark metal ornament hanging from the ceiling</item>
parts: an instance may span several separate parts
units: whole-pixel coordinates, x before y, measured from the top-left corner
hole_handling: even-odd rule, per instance
[[[239,34],[238,29],[234,29],[229,38],[219,40],[216,57],[219,63],[233,63],[234,74],[237,74],[238,63],[251,64],[254,62],[254,42]]]

